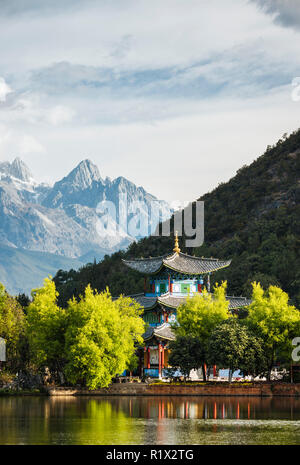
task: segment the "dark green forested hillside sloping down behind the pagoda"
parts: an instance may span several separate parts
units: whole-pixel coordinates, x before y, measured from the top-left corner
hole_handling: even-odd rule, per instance
[[[231,258],[229,268],[213,279],[228,280],[228,293],[249,295],[253,280],[278,284],[300,303],[300,130],[280,139],[250,166],[205,194],[205,243],[188,250],[196,256]],[[186,182],[188,182],[188,174]],[[201,179],[199,179],[201,182]],[[199,199],[200,200],[200,199]],[[88,264],[80,271],[58,272],[61,303],[91,285],[109,286],[113,295],[143,290],[143,278],[125,269],[124,257],[170,252],[173,238],[146,238],[126,252]],[[184,238],[181,249],[185,252]]]

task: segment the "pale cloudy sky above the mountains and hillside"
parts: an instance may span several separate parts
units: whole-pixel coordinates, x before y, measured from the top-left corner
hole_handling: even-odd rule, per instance
[[[192,200],[300,127],[299,50],[299,0],[0,0],[0,160]]]

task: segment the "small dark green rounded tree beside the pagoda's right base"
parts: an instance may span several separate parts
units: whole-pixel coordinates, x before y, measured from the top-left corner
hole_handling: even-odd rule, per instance
[[[190,371],[197,370],[203,365],[203,351],[199,340],[195,337],[177,336],[169,343],[169,364],[175,372],[179,369],[186,379]]]

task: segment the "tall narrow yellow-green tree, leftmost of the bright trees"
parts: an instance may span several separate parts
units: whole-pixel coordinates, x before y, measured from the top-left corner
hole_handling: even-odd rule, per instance
[[[61,370],[64,364],[66,311],[57,305],[58,293],[50,278],[32,291],[27,309],[27,335],[32,360],[38,367]]]

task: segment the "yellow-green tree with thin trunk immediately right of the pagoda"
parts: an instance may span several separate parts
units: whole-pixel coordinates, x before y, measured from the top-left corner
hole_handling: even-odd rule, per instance
[[[177,309],[176,336],[196,338],[203,351],[202,371],[206,374],[204,363],[208,360],[208,344],[215,327],[229,317],[226,300],[226,282],[216,284],[213,294],[204,291],[201,295],[188,298]]]

